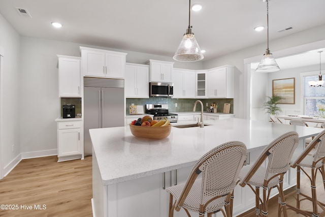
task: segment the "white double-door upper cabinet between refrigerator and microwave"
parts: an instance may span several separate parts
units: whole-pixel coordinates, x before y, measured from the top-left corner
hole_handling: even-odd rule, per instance
[[[125,98],[149,98],[149,66],[126,64]]]

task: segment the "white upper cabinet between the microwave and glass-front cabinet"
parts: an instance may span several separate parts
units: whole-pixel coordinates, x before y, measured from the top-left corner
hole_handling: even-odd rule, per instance
[[[173,98],[195,98],[195,71],[175,69],[173,72]]]

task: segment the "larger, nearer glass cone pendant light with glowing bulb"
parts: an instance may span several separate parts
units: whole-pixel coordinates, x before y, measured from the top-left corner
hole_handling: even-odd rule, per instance
[[[192,26],[190,25],[190,6],[191,1],[189,0],[188,27],[176,53],[173,56],[173,59],[181,62],[199,61],[204,58],[200,46],[194,37],[194,33],[192,33]]]

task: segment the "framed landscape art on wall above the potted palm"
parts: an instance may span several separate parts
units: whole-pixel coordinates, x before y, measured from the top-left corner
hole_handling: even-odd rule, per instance
[[[295,78],[272,81],[272,96],[279,96],[279,104],[295,104]]]

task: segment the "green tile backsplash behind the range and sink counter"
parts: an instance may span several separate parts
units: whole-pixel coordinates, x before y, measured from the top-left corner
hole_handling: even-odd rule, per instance
[[[195,101],[201,100],[203,103],[203,110],[207,111],[207,108],[210,108],[212,103],[219,105],[217,112],[223,111],[223,104],[230,103],[230,113],[234,113],[234,99],[175,99],[169,97],[150,97],[145,99],[137,98],[127,98],[126,99],[126,114],[129,114],[129,106],[134,105],[143,105],[144,111],[146,104],[168,104],[169,112],[186,112],[192,111]],[[175,106],[177,103],[177,107]],[[208,106],[206,106],[208,103]],[[201,111],[201,106],[197,105],[196,111]]]

